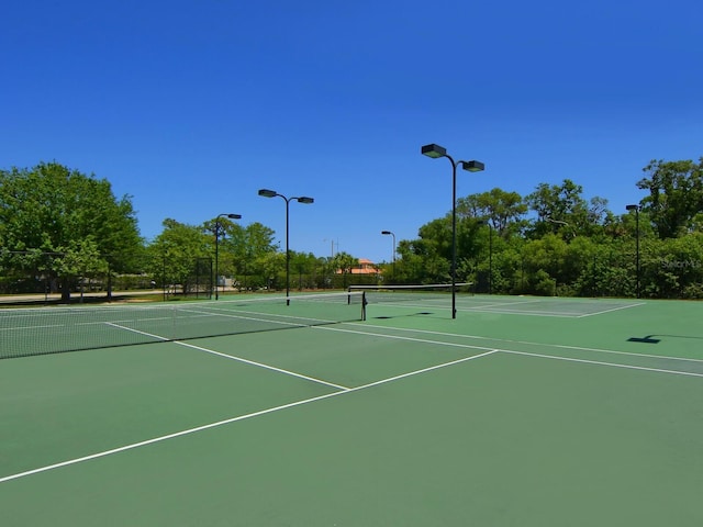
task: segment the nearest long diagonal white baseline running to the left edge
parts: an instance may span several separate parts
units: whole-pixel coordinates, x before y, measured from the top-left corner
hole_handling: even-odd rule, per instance
[[[495,354],[496,351],[498,350],[491,350],[491,351],[487,351],[484,354],[473,355],[471,357],[464,357],[462,359],[457,359],[457,360],[453,360],[453,361],[449,361],[449,362],[444,362],[442,365],[431,366],[428,368],[423,368],[421,370],[415,370],[415,371],[411,371],[411,372],[408,372],[408,373],[403,373],[403,374],[400,374],[400,375],[390,377],[388,379],[382,379],[380,381],[370,382],[368,384],[364,384],[361,386],[352,388],[349,390],[344,390],[344,391],[341,391],[341,392],[327,393],[325,395],[319,395],[316,397],[311,397],[311,399],[304,399],[302,401],[295,401],[293,403],[282,404],[280,406],[274,406],[271,408],[266,408],[266,410],[261,410],[261,411],[258,411],[258,412],[253,412],[250,414],[238,415],[236,417],[231,417],[228,419],[219,421],[216,423],[210,423],[208,425],[197,426],[194,428],[188,428],[186,430],[176,431],[174,434],[168,434],[168,435],[165,435],[165,436],[155,437],[155,438],[152,438],[152,439],[147,439],[145,441],[133,442],[131,445],[125,445],[123,447],[113,448],[113,449],[110,449],[110,450],[104,450],[102,452],[91,453],[90,456],[83,456],[81,458],[69,459],[69,460],[66,460],[66,461],[62,461],[59,463],[48,464],[46,467],[40,467],[38,469],[33,469],[33,470],[27,470],[25,472],[19,472],[16,474],[5,475],[4,478],[0,478],[0,483],[4,483],[7,481],[12,481],[12,480],[18,480],[20,478],[25,478],[27,475],[38,474],[41,472],[47,472],[49,470],[59,469],[62,467],[68,467],[68,466],[71,466],[71,464],[81,463],[83,461],[90,461],[92,459],[104,458],[104,457],[108,457],[108,456],[112,456],[114,453],[124,452],[126,450],[133,450],[135,448],[145,447],[147,445],[153,445],[155,442],[161,442],[161,441],[166,441],[168,439],[174,439],[176,437],[181,437],[181,436],[187,436],[187,435],[190,435],[190,434],[196,434],[198,431],[203,431],[203,430],[208,430],[210,428],[215,428],[215,427],[219,427],[219,426],[228,425],[231,423],[236,423],[238,421],[249,419],[252,417],[258,417],[260,415],[271,414],[274,412],[280,412],[282,410],[292,408],[294,406],[301,406],[303,404],[314,403],[316,401],[322,401],[322,400],[325,400],[325,399],[336,397],[338,395],[344,395],[344,394],[352,393],[352,392],[358,392],[358,391],[366,390],[366,389],[369,389],[369,388],[378,386],[380,384],[386,384],[386,383],[398,381],[398,380],[405,379],[405,378],[409,378],[409,377],[419,375],[421,373],[426,373],[428,371],[438,370],[440,368],[447,368],[449,366],[459,365],[461,362],[467,362],[469,360],[479,359],[481,357],[488,357],[490,355]]]

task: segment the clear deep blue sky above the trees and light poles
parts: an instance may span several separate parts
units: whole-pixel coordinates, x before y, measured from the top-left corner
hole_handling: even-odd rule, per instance
[[[612,211],[651,159],[703,156],[700,0],[4,2],[0,167],[64,164],[166,217],[260,222],[391,259],[458,194],[572,179]]]

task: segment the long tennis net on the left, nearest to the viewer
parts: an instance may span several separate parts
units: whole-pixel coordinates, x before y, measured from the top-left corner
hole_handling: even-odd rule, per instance
[[[365,319],[364,292],[0,310],[0,359]]]

